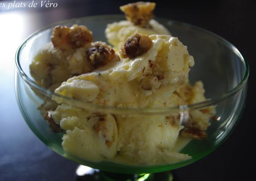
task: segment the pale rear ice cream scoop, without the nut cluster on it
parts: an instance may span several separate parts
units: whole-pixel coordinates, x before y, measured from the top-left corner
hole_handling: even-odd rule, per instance
[[[148,25],[145,27],[134,25],[130,21],[114,22],[107,25],[105,35],[108,39],[108,42],[113,45],[114,50],[118,51],[126,39],[136,31],[141,34],[148,35],[171,35],[168,29],[166,29],[162,24],[155,20],[150,20]]]

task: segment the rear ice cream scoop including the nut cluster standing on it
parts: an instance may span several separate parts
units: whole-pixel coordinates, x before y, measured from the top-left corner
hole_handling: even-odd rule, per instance
[[[147,35],[171,35],[162,24],[151,19],[154,17],[155,3],[137,2],[121,6],[127,20],[107,25],[105,35],[115,51],[119,51],[126,39],[134,32]]]

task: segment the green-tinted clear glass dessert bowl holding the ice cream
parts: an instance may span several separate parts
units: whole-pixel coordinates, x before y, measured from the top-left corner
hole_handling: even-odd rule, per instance
[[[107,24],[123,19],[124,17],[121,15],[104,15],[61,21],[34,33],[21,44],[16,54],[15,91],[18,105],[26,123],[34,134],[56,153],[81,165],[105,172],[124,174],[164,172],[186,166],[210,154],[227,139],[241,117],[247,92],[246,82],[249,68],[248,63],[232,44],[207,30],[176,21],[156,19],[172,33],[172,36],[178,37],[184,45],[187,45],[189,53],[194,56],[196,63],[189,72],[189,80],[192,85],[197,80],[203,81],[206,90],[205,96],[208,98],[199,103],[164,108],[136,109],[102,106],[55,94],[53,91],[35,83],[30,74],[29,65],[38,51],[49,42],[52,30],[56,25],[85,25],[93,32],[96,41],[107,42],[104,35]],[[64,133],[53,133],[49,129],[49,124],[44,120],[38,107],[45,100],[53,101],[52,98],[88,112],[99,112],[121,117],[145,119],[154,116],[179,115],[179,119],[184,125],[186,125],[184,122],[186,122],[190,112],[215,107],[216,114],[210,118],[206,139],[179,139],[177,142],[179,144],[172,148],[175,152],[189,155],[190,157],[186,160],[177,160],[175,163],[163,162],[164,164],[153,163],[153,159],[152,164],[108,159],[95,162],[65,151],[62,148]],[[143,127],[143,125],[138,126]],[[143,136],[143,134],[139,134],[140,129],[136,129],[136,131],[138,135]],[[93,155],[93,151],[91,151],[91,155]],[[153,158],[156,155],[149,156]],[[148,160],[150,160],[150,157]],[[145,180],[150,176],[148,174],[137,175],[137,178],[140,177],[140,180]]]

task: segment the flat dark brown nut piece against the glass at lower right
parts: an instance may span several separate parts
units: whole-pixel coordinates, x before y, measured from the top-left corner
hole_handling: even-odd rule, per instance
[[[192,139],[202,140],[207,138],[206,131],[198,130],[197,128],[184,128],[181,130],[181,135]]]

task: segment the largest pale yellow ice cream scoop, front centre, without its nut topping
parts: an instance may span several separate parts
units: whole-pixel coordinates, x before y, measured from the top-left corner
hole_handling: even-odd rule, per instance
[[[183,84],[187,84],[189,66],[194,65],[193,57],[189,55],[187,47],[175,37],[151,35],[149,38],[152,46],[148,52],[72,77],[63,82],[55,93],[83,102],[115,107],[152,108],[187,104],[178,92]],[[65,102],[57,97],[54,100],[58,103]],[[61,113],[57,110],[55,115],[60,116]],[[139,164],[175,163],[189,159],[189,155],[171,151],[183,128],[179,116],[178,112],[158,116],[115,115],[118,130],[116,151],[119,151],[119,156]],[[72,122],[71,118],[67,120]],[[73,134],[83,133],[79,128],[73,127],[78,126],[75,123],[72,125]],[[70,133],[67,132],[64,136],[63,148],[85,158],[86,154],[75,151],[74,145],[66,144],[67,140],[76,142]],[[83,134],[87,137],[87,133]],[[84,144],[87,142],[85,140]],[[108,156],[105,158],[111,159]],[[90,159],[93,159],[91,155]],[[99,161],[99,155],[95,155],[94,161]]]

